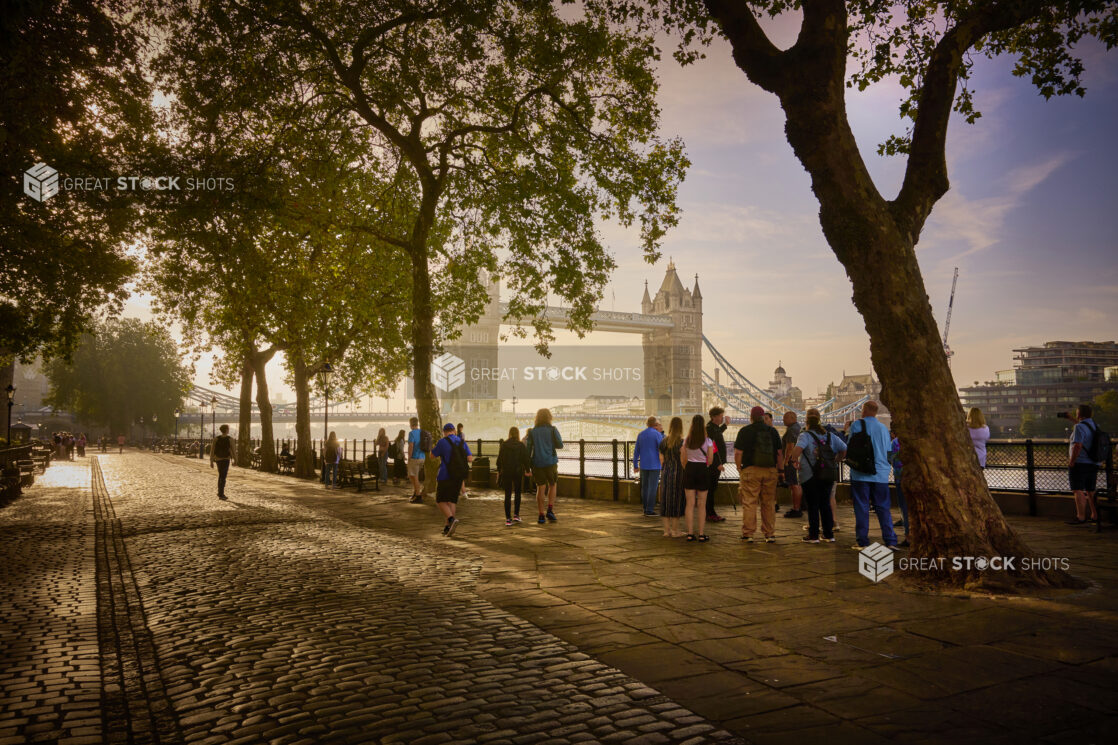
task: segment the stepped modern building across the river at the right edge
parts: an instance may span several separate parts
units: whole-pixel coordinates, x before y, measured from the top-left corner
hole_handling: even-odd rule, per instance
[[[959,390],[963,406],[976,406],[991,427],[1020,428],[1026,416],[1054,418],[1108,390],[1118,390],[1118,345],[1114,341],[1049,341],[1014,349],[1015,365],[995,379]]]

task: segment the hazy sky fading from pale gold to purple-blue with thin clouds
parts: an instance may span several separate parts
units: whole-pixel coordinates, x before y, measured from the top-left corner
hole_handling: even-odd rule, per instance
[[[792,21],[773,29],[777,44],[794,34]],[[1118,53],[1089,47],[1083,56],[1087,96],[1051,101],[1013,77],[1011,60],[977,60],[972,87],[983,115],[949,128],[951,188],[917,255],[940,330],[959,267],[949,342],[960,387],[1012,367],[1016,347],[1118,339]],[[863,158],[887,198],[904,163],[875,149],[903,130],[900,96],[889,83],[847,96]],[[805,396],[843,372],[869,371],[864,324],[823,238],[776,97],[749,83],[718,41],[684,68],[665,55],[660,102],[662,134],[681,136],[692,163],[679,194],[682,219],[655,265],[644,261],[635,232],[601,226],[618,264],[601,307],[638,311],[644,282],[655,292],[671,258],[686,287],[699,275],[705,334],[755,384],[766,386],[778,362]],[[134,296],[126,314],[146,317],[146,299]],[[560,332],[558,341],[568,340]],[[639,337],[597,333],[589,341]],[[704,369],[713,369],[709,353]],[[196,383],[219,387],[208,374],[203,358]],[[276,359],[273,390],[292,400],[282,377]],[[391,403],[411,405],[402,387]]]

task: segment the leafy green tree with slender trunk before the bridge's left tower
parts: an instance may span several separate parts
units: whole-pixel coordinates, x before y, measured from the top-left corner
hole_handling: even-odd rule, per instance
[[[676,221],[686,161],[678,141],[655,135],[646,36],[568,18],[551,0],[174,8],[164,22],[181,29],[177,53],[197,60],[200,86],[236,98],[262,78],[299,77],[340,126],[364,134],[368,160],[396,169],[392,180],[416,195],[411,219],[376,235],[410,267],[425,428],[440,423],[435,350],[480,317],[482,270],[505,281],[510,318],[537,319],[551,293],[585,331],[614,266],[595,218],[639,221],[653,257]],[[544,350],[550,327],[533,327]]]

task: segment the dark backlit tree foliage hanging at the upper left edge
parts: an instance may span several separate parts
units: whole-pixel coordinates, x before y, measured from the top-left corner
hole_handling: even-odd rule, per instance
[[[61,190],[41,202],[22,192],[38,162],[61,177],[143,172],[151,86],[123,4],[16,2],[0,15],[0,364],[68,353],[96,313],[119,312],[127,296],[127,192]]]

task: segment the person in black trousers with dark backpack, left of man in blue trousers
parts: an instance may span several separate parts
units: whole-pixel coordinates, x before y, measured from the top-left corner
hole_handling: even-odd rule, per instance
[[[797,481],[804,489],[807,504],[807,535],[803,541],[833,544],[835,521],[831,487],[839,480],[839,463],[846,453],[846,443],[823,428],[823,417],[816,408],[807,409],[805,424],[806,428],[788,452],[788,462],[797,469]]]

